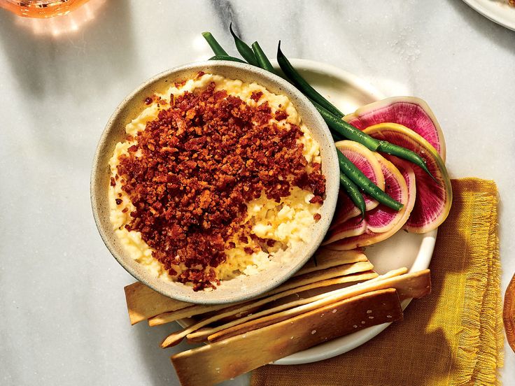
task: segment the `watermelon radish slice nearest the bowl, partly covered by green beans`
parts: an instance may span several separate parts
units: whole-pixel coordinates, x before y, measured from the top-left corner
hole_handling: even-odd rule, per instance
[[[344,153],[344,155],[351,160],[355,166],[360,169],[360,171],[365,174],[374,184],[376,184],[379,189],[384,190],[384,177],[383,172],[381,171],[381,165],[379,161],[376,159],[375,153],[365,148],[365,146],[360,143],[354,141],[339,141],[335,143],[337,149]],[[379,205],[379,202],[367,196],[367,194],[363,194],[363,199],[365,199],[365,208],[366,210],[372,210],[376,206]],[[338,196],[337,209],[334,212],[334,217],[332,220],[332,227],[337,224],[341,224],[342,222],[347,221],[348,219],[360,215],[360,210],[356,208],[354,203],[345,192],[340,190]]]

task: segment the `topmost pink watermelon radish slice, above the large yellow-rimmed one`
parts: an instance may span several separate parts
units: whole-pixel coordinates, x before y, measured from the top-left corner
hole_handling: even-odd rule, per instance
[[[428,103],[420,98],[395,96],[383,99],[358,108],[345,115],[344,120],[360,130],[384,122],[402,124],[425,138],[445,162],[444,134]]]

